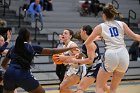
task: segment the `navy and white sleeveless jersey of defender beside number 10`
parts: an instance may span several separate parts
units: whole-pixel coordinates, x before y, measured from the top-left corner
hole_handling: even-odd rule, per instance
[[[101,59],[101,55],[100,55],[100,51],[99,51],[99,46],[96,42],[94,42],[95,45],[96,45],[96,50],[95,50],[95,53],[96,53],[96,57],[94,58],[93,60],[93,64],[87,64],[86,67],[87,67],[87,70],[91,70],[91,69],[96,69],[96,65],[98,64],[98,61]],[[82,54],[84,55],[85,58],[88,57],[87,55],[87,48],[85,46],[85,44],[82,46]],[[99,62],[100,63],[100,62]]]

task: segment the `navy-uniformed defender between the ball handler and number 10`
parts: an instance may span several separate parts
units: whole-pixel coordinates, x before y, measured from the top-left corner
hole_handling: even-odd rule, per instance
[[[92,33],[92,31],[93,30],[91,26],[83,26],[80,31],[81,39],[85,41],[88,38],[88,36]],[[97,39],[99,38],[96,38],[96,40]],[[90,44],[89,48],[86,48],[85,44],[83,43],[82,53],[80,53],[78,57],[80,56],[84,58],[76,59],[71,57],[65,59],[63,56],[59,57],[59,60],[65,60],[66,63],[86,64],[86,75],[81,79],[80,83],[78,84],[76,93],[84,93],[85,89],[95,82],[98,70],[102,63],[99,47],[95,41]],[[107,85],[105,85],[104,90],[107,91],[107,93],[109,93],[109,87]]]

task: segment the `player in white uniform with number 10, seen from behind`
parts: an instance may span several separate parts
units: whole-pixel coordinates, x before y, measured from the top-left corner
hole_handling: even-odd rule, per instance
[[[116,93],[116,89],[128,69],[129,54],[124,44],[124,34],[140,41],[140,35],[135,34],[126,23],[114,20],[115,16],[120,16],[120,13],[112,4],[107,4],[102,14],[104,23],[97,25],[85,42],[88,48],[97,36],[101,36],[106,45],[104,63],[97,75],[96,93],[104,93],[103,87],[111,75],[113,76],[110,92]]]

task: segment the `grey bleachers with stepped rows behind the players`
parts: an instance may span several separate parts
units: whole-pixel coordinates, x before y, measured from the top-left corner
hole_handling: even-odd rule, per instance
[[[1,1],[1,0],[0,0]],[[6,0],[8,2],[9,0]],[[81,0],[83,1],[83,0]],[[128,12],[132,9],[136,12],[136,19],[130,20],[130,27],[134,32],[139,33],[138,20],[140,18],[140,4],[138,0],[117,0],[119,4],[119,10],[124,15],[124,21],[128,22]],[[98,17],[80,17],[77,11],[79,7],[79,0],[53,0],[54,11],[43,11],[44,28],[42,31],[37,32],[37,38],[35,38],[35,28],[31,26],[31,23],[24,20],[24,12],[21,11],[20,15],[20,27],[27,27],[31,31],[32,44],[43,47],[54,47],[57,42],[57,34],[62,33],[64,29],[69,28],[74,32],[78,31],[83,25],[91,25],[95,27],[102,22],[102,18]],[[100,0],[102,3],[112,2],[112,0]],[[19,30],[19,7],[23,4],[29,3],[28,0],[11,0],[9,8],[5,10],[5,16],[3,16],[3,4],[0,3],[0,18],[7,21],[7,25],[13,28],[13,36],[11,45],[15,43],[17,33]],[[133,16],[133,14],[131,15]],[[128,23],[127,23],[128,24]],[[56,32],[56,33],[54,33]],[[36,39],[36,40],[35,40]],[[75,42],[79,43],[74,39]],[[54,42],[54,43],[53,43]],[[125,42],[127,49],[129,49],[133,40],[125,36]],[[101,53],[104,53],[104,44],[99,41]],[[9,46],[9,47],[10,47]],[[34,59],[35,67],[32,68],[33,74],[40,81],[41,84],[56,84],[59,82],[55,74],[55,65],[51,60],[51,56],[36,56]],[[140,62],[130,62],[128,72],[123,80],[140,80]]]

